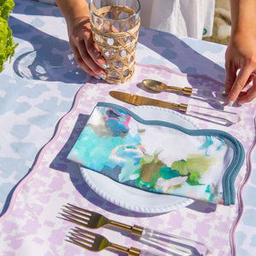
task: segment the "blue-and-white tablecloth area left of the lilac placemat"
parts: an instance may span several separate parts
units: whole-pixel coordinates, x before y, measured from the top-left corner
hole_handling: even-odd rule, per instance
[[[90,79],[74,61],[57,7],[17,0],[9,26],[18,46],[0,74],[0,216]]]

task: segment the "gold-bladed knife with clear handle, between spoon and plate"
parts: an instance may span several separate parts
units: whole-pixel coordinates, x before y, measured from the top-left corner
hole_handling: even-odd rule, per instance
[[[236,124],[241,120],[237,113],[228,112],[220,109],[206,108],[183,103],[177,104],[172,102],[164,102],[116,90],[111,90],[109,92],[109,95],[113,96],[113,98],[121,102],[130,103],[131,105],[135,106],[147,105],[160,108],[176,109],[182,113],[186,113],[195,118],[212,121],[213,123],[217,123],[219,125],[229,126]]]

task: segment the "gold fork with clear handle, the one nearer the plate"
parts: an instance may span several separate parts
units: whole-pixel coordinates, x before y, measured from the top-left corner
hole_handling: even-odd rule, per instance
[[[201,253],[201,255],[211,254],[208,248],[200,241],[175,236],[159,230],[143,228],[138,225],[131,226],[128,224],[119,223],[117,221],[105,218],[100,213],[91,212],[84,208],[73,206],[69,203],[64,207],[66,207],[66,209],[63,210],[64,213],[61,213],[61,215],[68,221],[79,224],[80,226],[84,226],[85,228],[98,229],[105,225],[113,225],[123,230],[131,231],[133,235],[139,236],[141,241],[150,241],[157,245],[165,245],[165,247],[167,244],[167,247],[172,251],[172,253],[176,253],[176,255],[188,255],[186,253],[191,253],[192,250]]]

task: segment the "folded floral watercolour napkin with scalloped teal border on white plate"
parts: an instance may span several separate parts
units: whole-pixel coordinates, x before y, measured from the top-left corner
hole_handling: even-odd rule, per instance
[[[138,189],[230,205],[244,150],[224,131],[144,120],[99,102],[67,158]]]

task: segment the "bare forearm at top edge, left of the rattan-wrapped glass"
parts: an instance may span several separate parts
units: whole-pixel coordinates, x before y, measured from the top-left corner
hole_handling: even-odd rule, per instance
[[[85,0],[55,0],[55,3],[67,22],[90,16],[89,5]]]

